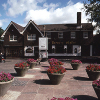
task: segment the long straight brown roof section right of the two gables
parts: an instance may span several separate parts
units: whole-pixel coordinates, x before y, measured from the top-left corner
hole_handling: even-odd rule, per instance
[[[44,31],[44,25],[38,25],[41,31]],[[67,30],[79,30],[77,24],[47,24],[45,25],[45,31],[67,31]],[[91,23],[82,23],[81,30],[93,30]]]

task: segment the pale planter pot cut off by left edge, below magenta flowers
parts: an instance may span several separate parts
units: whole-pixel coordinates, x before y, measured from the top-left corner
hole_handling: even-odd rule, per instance
[[[0,82],[0,96],[4,96],[7,93],[13,81],[14,78],[7,82]]]

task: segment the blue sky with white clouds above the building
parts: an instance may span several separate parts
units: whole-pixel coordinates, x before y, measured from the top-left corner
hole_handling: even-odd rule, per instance
[[[90,16],[81,10],[85,1],[88,3],[88,0],[1,0],[0,27],[5,30],[11,21],[25,27],[30,20],[37,25],[77,23],[77,12],[82,12],[81,22],[87,23]]]

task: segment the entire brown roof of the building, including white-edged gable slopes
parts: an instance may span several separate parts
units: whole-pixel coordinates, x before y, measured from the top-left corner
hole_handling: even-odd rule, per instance
[[[93,30],[92,23],[81,23],[82,28],[77,28],[77,23],[37,25],[34,21],[30,20],[25,27],[22,27],[21,25],[11,21],[11,23],[8,25],[2,36],[5,35],[6,31],[8,30],[11,24],[15,26],[15,28],[19,31],[20,34],[23,34],[23,32],[26,30],[30,23],[32,23],[35,26],[35,28],[41,33],[41,36],[43,36],[42,32],[44,31],[44,26],[45,31]]]

